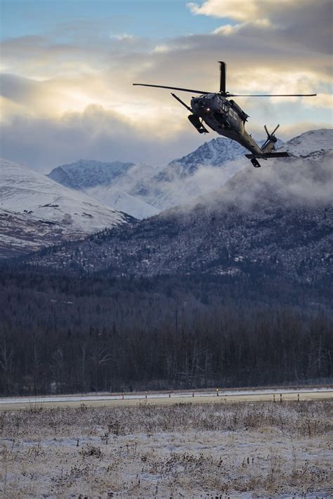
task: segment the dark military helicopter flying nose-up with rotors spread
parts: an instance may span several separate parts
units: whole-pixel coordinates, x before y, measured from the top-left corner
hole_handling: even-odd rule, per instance
[[[233,94],[226,91],[226,62],[218,61],[220,64],[220,91],[219,92],[204,92],[199,90],[192,90],[190,88],[180,88],[174,86],[164,85],[150,85],[150,84],[133,84],[134,86],[150,86],[155,88],[169,88],[170,90],[178,90],[190,93],[199,93],[199,97],[191,98],[191,105],[188,106],[177,95],[171,93],[178,102],[180,102],[190,114],[188,119],[190,123],[197,129],[199,133],[209,133],[206,126],[211,130],[223,135],[224,137],[235,140],[240,145],[248,149],[251,154],[245,154],[248,159],[251,159],[252,165],[255,168],[260,168],[261,164],[259,159],[268,158],[281,158],[288,157],[287,152],[274,152],[275,143],[277,138],[275,132],[279,126],[276,126],[272,133],[268,132],[266,125],[264,125],[267,139],[260,147],[259,144],[252,138],[252,135],[245,130],[245,123],[249,115],[236,104],[235,100],[231,97],[313,97],[316,93],[289,93],[289,94],[272,94],[272,95],[243,95]]]

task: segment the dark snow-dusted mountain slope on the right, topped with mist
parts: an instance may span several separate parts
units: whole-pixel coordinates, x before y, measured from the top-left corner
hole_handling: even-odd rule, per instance
[[[289,281],[327,279],[333,233],[330,138],[332,131],[305,133],[287,143],[292,157],[264,162],[263,168],[242,163],[226,185],[192,204],[32,261],[109,269],[114,275],[251,270]]]

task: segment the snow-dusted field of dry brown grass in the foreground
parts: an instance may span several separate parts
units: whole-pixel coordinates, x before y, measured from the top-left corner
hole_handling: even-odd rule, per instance
[[[332,401],[0,415],[4,498],[332,497]]]

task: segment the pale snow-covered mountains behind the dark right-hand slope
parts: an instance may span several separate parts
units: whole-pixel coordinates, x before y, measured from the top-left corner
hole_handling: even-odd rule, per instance
[[[217,177],[223,185],[239,168],[223,166],[242,152],[237,144],[217,138],[159,168],[80,159],[46,176],[0,160],[0,258],[81,239],[195,199],[215,187]]]

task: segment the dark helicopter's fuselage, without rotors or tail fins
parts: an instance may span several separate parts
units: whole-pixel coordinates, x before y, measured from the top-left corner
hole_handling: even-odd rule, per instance
[[[191,99],[192,112],[212,130],[240,143],[259,157],[264,153],[245,130],[248,115],[234,100],[227,100],[217,93],[206,93]]]

